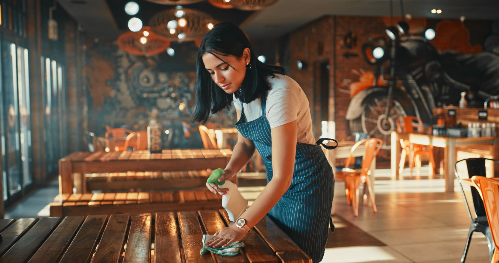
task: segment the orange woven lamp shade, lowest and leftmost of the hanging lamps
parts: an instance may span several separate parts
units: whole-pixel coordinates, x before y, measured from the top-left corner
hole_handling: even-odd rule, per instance
[[[144,36],[144,31],[147,31],[149,35]],[[141,42],[142,37],[146,38],[145,43]],[[116,44],[127,53],[151,56],[164,52],[170,46],[170,40],[155,34],[149,26],[143,26],[138,32],[127,31],[122,33],[116,39]]]

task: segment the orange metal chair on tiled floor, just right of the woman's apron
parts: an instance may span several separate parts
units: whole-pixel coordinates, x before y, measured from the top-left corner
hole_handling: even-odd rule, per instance
[[[348,169],[350,164],[355,162],[355,157],[352,157],[353,152],[359,145],[365,143],[366,151],[364,154],[364,158],[362,159],[362,167],[360,171]],[[346,183],[346,197],[348,205],[352,204],[353,213],[357,217],[359,215],[359,186],[361,182],[364,182],[364,194],[366,193],[366,189],[371,196],[371,204],[373,206],[373,211],[376,213],[376,204],[374,203],[373,190],[372,190],[372,182],[369,179],[369,170],[371,168],[372,161],[376,158],[383,145],[383,141],[378,138],[370,138],[358,141],[352,146],[350,150],[350,156],[346,159],[345,171],[336,171],[334,177],[335,179],[340,179],[345,181]]]

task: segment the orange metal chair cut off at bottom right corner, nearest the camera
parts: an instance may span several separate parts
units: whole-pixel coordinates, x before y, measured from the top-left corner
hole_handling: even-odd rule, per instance
[[[496,245],[491,263],[499,262],[499,180],[484,176],[473,176],[471,178],[484,200],[487,221],[491,228],[492,238]]]

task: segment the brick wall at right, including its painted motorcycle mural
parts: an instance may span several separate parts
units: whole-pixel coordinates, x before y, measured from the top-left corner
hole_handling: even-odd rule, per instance
[[[399,19],[394,17],[394,24]],[[289,75],[307,95],[312,116],[320,110],[314,104],[313,65],[323,61],[330,65],[327,119],[334,123],[336,139],[367,132],[382,138],[388,148],[398,116],[420,116],[430,125],[433,107],[458,105],[462,91],[475,92],[475,103],[488,94],[499,94],[499,21],[412,17],[411,36],[401,38],[397,46],[395,101],[389,118],[384,118],[390,54],[385,28],[389,25],[390,17],[335,15],[290,33]],[[424,38],[427,28],[435,29],[433,40]],[[381,59],[372,54],[376,47],[384,53]],[[300,70],[297,60],[310,66]],[[378,156],[388,159],[389,152]]]

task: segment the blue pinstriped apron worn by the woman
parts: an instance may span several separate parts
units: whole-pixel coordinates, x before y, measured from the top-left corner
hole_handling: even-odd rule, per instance
[[[242,103],[236,128],[253,141],[267,169],[267,183],[272,179],[272,142],[270,124],[265,116],[266,96],[261,101],[259,118],[246,121]],[[317,141],[320,144],[324,140]],[[336,146],[326,146],[334,149]],[[289,189],[267,216],[300,247],[313,262],[320,262],[326,248],[328,224],[334,195],[334,176],[320,145],[297,143],[293,179]]]

